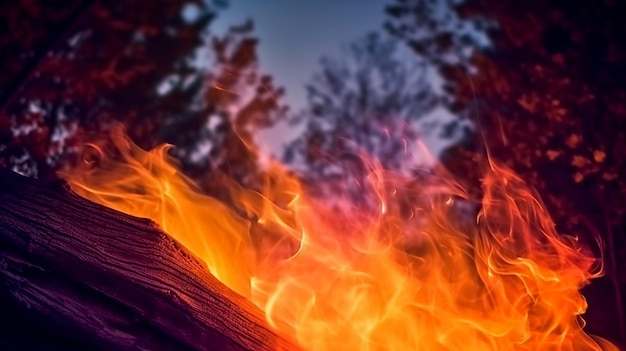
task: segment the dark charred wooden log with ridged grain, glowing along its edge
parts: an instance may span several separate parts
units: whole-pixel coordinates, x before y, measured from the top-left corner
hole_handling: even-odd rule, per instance
[[[149,220],[0,169],[0,349],[295,350]]]

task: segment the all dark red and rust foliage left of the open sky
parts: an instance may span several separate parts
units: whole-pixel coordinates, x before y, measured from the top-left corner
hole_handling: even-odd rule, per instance
[[[10,55],[0,71],[0,164],[54,176],[76,160],[81,135],[121,121],[143,148],[176,145],[195,178],[217,168],[239,178],[254,173],[256,158],[242,141],[253,142],[252,130],[278,118],[272,111],[281,92],[258,72],[252,22],[213,37],[205,49],[224,1],[57,5],[2,5],[0,45]],[[210,70],[202,49],[215,62]]]

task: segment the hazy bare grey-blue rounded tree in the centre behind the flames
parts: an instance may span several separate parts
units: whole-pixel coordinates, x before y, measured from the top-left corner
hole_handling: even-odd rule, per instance
[[[306,129],[288,146],[287,162],[295,168],[304,163],[305,177],[327,181],[362,173],[355,156],[363,154],[386,169],[414,166],[409,153],[419,138],[416,122],[437,99],[428,67],[403,49],[370,33],[344,47],[341,58],[323,58],[307,86],[309,106],[291,118]]]

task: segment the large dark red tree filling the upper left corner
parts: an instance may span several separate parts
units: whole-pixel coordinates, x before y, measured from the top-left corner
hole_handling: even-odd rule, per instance
[[[0,163],[48,177],[81,130],[120,120],[150,147],[165,121],[203,113],[187,108],[203,79],[191,58],[223,1],[53,3],[12,1],[0,11],[10,53],[0,73]],[[190,7],[193,19],[183,16]],[[178,83],[159,92],[166,79]]]

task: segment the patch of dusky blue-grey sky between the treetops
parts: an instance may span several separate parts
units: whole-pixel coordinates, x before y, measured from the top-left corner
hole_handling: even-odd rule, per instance
[[[322,55],[338,53],[342,44],[382,28],[389,0],[230,0],[212,25],[224,33],[252,18],[259,38],[261,70],[286,90],[292,110],[305,106],[305,83]]]

